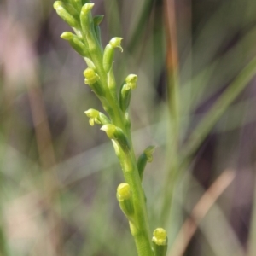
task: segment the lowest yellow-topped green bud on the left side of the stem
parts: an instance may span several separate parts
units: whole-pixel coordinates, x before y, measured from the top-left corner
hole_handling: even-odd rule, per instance
[[[117,188],[117,200],[119,201],[119,206],[121,210],[125,213],[125,216],[133,222],[133,202],[131,197],[131,189],[128,183],[120,183]]]

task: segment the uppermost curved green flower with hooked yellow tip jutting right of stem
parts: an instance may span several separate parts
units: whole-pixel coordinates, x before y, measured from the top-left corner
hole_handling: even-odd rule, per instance
[[[103,67],[105,71],[108,73],[113,64],[113,50],[115,48],[119,48],[123,51],[121,47],[121,41],[123,38],[112,38],[104,49],[103,53]]]

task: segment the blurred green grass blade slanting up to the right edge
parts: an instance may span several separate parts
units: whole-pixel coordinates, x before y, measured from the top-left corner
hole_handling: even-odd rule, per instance
[[[191,133],[188,142],[183,146],[183,151],[177,155],[175,162],[171,164],[168,182],[166,182],[166,198],[163,205],[162,218],[167,221],[169,212],[171,211],[170,203],[172,203],[172,193],[177,183],[177,176],[188,168],[193,159],[196,150],[201,146],[201,143],[212,131],[212,127],[218,122],[218,119],[229,108],[230,104],[240,95],[241,91],[247,86],[248,82],[253,79],[256,74],[256,58],[250,61],[246,67],[241,71],[237,78],[229,85],[224,93],[219,96],[217,102],[214,103],[212,108],[207,112],[207,115],[195,127]],[[169,186],[169,188],[167,188]]]

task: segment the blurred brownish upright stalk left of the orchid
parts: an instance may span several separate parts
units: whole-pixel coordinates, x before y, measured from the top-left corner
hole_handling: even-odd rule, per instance
[[[27,84],[38,84],[38,81],[35,77],[29,78]],[[61,221],[60,218],[56,216],[55,211],[51,208],[53,207],[53,204],[55,204],[59,185],[54,174],[55,152],[52,146],[47,114],[39,85],[36,85],[33,88],[28,86],[27,90],[32,111],[32,121],[35,127],[35,136],[38,144],[39,159],[44,170],[45,202],[47,207],[49,207],[49,229],[53,232],[51,234],[53,237],[53,239],[51,239],[53,242],[52,247],[55,250],[56,256],[62,256]]]

